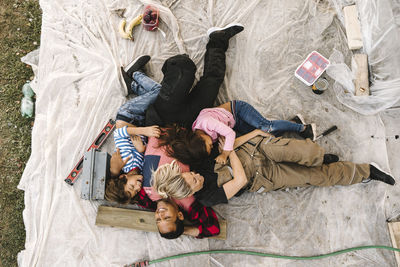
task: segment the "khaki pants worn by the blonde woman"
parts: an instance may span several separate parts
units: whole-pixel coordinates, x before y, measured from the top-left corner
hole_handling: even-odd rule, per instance
[[[322,164],[324,149],[311,140],[255,137],[236,151],[250,192],[287,187],[350,185],[369,177],[369,164]],[[220,183],[231,179],[216,165]],[[221,177],[220,177],[221,176]]]

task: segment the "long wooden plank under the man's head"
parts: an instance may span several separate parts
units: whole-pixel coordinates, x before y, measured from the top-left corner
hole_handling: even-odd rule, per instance
[[[154,220],[154,212],[144,210],[100,206],[97,211],[96,225],[136,229],[146,232],[158,232]],[[225,240],[227,227],[226,221],[219,219],[219,226],[219,235],[210,238]]]

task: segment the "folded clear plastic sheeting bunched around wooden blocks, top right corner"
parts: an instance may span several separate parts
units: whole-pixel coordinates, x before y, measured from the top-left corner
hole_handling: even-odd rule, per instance
[[[356,1],[364,47],[370,66],[370,96],[354,96],[355,70],[350,70],[343,56],[335,51],[327,70],[336,80],[333,89],[338,100],[364,115],[376,114],[400,100],[400,3],[398,1]],[[339,17],[343,14],[337,4]],[[342,18],[343,22],[343,18]]]

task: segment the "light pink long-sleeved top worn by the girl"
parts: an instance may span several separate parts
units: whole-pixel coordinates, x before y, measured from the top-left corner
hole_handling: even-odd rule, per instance
[[[224,150],[232,151],[235,143],[235,119],[224,108],[205,108],[193,122],[192,130],[203,130],[215,143],[219,136],[225,137]]]

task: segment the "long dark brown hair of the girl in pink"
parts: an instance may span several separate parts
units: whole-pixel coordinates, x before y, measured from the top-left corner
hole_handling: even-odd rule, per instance
[[[206,144],[199,135],[179,126],[163,130],[159,147],[165,146],[168,156],[176,158],[191,168],[200,166],[208,158]]]

